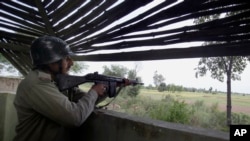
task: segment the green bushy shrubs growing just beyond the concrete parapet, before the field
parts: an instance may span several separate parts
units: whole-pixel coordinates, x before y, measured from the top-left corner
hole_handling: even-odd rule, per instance
[[[167,95],[162,100],[153,100],[140,95],[129,97],[118,96],[112,102],[119,105],[118,109],[112,109],[140,117],[148,117],[174,123],[187,124],[196,127],[209,128],[221,131],[229,131],[226,124],[226,113],[218,109],[218,103],[206,106],[203,101],[196,101],[194,104],[186,104],[183,101],[175,100]],[[232,114],[232,123],[250,124],[250,116],[245,114]]]

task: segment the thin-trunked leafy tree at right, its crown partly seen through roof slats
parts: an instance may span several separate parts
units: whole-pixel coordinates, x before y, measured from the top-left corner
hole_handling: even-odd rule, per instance
[[[227,13],[226,16],[235,13]],[[206,21],[211,21],[219,18],[220,15],[212,15],[198,18],[194,23],[199,24]],[[223,44],[225,42],[205,42],[204,46],[211,44]],[[247,61],[250,57],[244,56],[226,56],[226,57],[209,57],[201,58],[198,67],[195,68],[196,77],[204,76],[207,71],[211,73],[213,79],[217,79],[220,82],[224,82],[224,78],[227,79],[227,125],[231,124],[231,80],[240,80],[240,74],[247,66]]]

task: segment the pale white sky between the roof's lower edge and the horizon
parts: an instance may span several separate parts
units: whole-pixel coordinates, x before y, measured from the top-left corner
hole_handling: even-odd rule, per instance
[[[137,62],[140,64],[138,76],[142,78],[145,86],[153,83],[154,72],[163,75],[166,84],[181,85],[183,87],[193,88],[205,88],[208,90],[210,87],[213,90],[226,92],[226,81],[220,82],[216,79],[212,79],[210,74],[207,73],[204,77],[195,77],[194,68],[197,67],[199,58],[193,59],[170,59],[170,60],[159,60],[159,61],[141,61]],[[98,71],[102,73],[103,66],[110,67],[114,65],[122,65],[128,69],[133,69],[136,62],[85,62],[88,65],[88,70],[84,73],[92,73]],[[241,74],[240,81],[232,81],[232,92],[250,94],[250,64],[248,63],[247,68]],[[226,80],[226,79],[225,79]]]

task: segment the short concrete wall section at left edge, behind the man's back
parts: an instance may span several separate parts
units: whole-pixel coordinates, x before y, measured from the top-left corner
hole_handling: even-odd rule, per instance
[[[0,92],[0,141],[12,141],[17,124],[15,95]]]

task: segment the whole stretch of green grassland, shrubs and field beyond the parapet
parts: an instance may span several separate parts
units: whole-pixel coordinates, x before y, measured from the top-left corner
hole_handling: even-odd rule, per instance
[[[87,90],[89,88],[84,87]],[[250,95],[232,94],[232,123],[250,124]],[[107,103],[106,99],[100,105]],[[107,109],[168,122],[229,132],[226,94],[158,92],[141,89],[137,97],[119,94]]]

